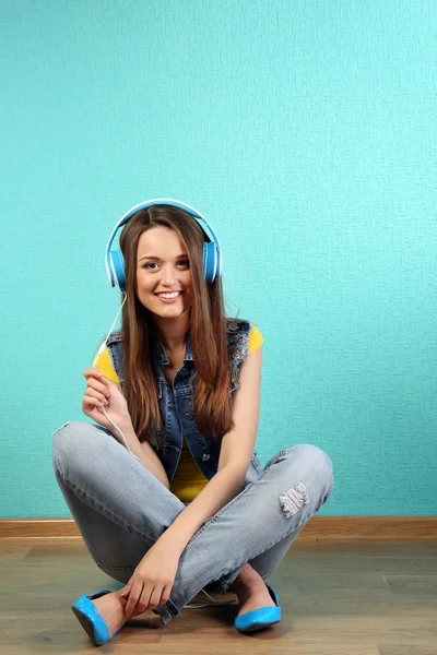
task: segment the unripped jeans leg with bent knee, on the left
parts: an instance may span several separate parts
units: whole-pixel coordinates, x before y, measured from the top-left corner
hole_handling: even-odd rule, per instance
[[[99,426],[54,433],[56,479],[97,565],[127,583],[185,504]]]

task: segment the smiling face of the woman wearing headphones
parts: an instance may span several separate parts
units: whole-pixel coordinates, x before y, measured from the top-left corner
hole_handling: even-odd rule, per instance
[[[176,299],[158,294],[178,291]],[[149,311],[162,318],[177,318],[192,303],[191,270],[179,235],[169,227],[144,231],[138,243],[137,295]]]

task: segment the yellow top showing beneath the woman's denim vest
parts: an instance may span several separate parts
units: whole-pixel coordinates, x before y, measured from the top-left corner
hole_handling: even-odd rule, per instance
[[[260,331],[252,324],[249,333],[249,354],[259,348],[262,343],[263,338]],[[114,370],[108,348],[105,348],[98,358],[98,368],[105,378],[113,380],[113,382],[116,382],[117,384],[120,383],[120,380]],[[179,464],[175,476],[170,483],[170,491],[182,502],[191,502],[206,484],[208,479],[192,458],[186,438],[182,434],[182,452],[180,453]]]

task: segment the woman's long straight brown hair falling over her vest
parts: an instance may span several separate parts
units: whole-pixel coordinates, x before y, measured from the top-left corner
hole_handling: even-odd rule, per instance
[[[194,414],[202,434],[223,437],[232,430],[229,362],[222,279],[206,283],[200,225],[189,213],[173,205],[152,205],[130,218],[120,234],[125,259],[126,302],[121,314],[125,397],[135,433],[149,440],[162,430],[152,366],[155,330],[151,312],[137,296],[137,257],[140,236],[155,226],[174,229],[186,247],[191,269],[192,306],[190,336],[196,372]]]

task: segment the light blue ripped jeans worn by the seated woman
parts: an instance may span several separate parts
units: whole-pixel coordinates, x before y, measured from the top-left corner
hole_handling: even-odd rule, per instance
[[[56,479],[83,540],[97,567],[126,584],[186,505],[106,428],[74,421],[52,437]],[[247,562],[265,580],[332,489],[322,450],[300,443],[279,451],[191,537],[170,598],[155,614],[168,623],[206,585],[226,592]]]

